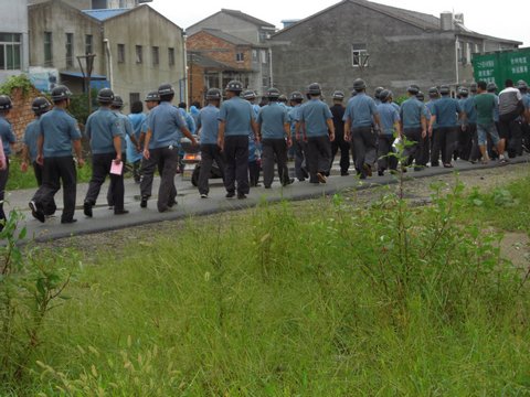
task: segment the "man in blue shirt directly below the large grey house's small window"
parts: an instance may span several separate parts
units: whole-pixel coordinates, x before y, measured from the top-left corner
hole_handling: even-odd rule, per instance
[[[350,98],[344,112],[344,133],[351,139],[356,170],[360,179],[372,175],[372,165],[377,160],[377,143],[380,120],[378,108],[367,95],[367,84],[357,78],[353,82],[356,95]]]

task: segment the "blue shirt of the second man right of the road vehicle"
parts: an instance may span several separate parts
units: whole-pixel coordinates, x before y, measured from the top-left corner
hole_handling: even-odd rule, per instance
[[[247,137],[252,133],[251,120],[254,119],[251,103],[235,96],[223,101],[219,111],[219,120],[225,121],[224,135],[226,137]]]

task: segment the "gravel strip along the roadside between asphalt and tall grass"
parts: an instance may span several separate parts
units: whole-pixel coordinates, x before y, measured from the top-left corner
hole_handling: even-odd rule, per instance
[[[430,185],[434,182],[444,182],[454,185],[457,180],[462,181],[467,190],[477,186],[481,191],[488,191],[496,186],[505,185],[511,181],[528,176],[530,174],[530,165],[515,164],[510,167],[499,167],[487,170],[477,170],[464,172],[459,175],[447,174],[439,175],[435,179],[411,179],[405,181],[404,190],[405,196],[417,204],[428,203],[431,189]],[[377,181],[378,176],[373,180]],[[379,196],[389,192],[389,189],[395,191],[398,185],[372,187],[361,191],[350,191],[346,195],[353,197],[358,205],[378,198]],[[449,190],[449,189],[447,189]],[[317,201],[304,201],[293,203],[295,210],[303,210],[308,205],[316,204]],[[245,212],[222,213],[210,216],[204,216],[194,219],[194,222],[218,224],[222,222],[225,224],[230,221],[235,221]],[[162,222],[159,224],[150,224],[146,226],[137,226],[127,229],[97,233],[93,235],[83,235],[78,237],[64,238],[51,243],[43,244],[46,247],[72,247],[81,250],[85,256],[85,261],[91,261],[97,253],[119,253],[130,244],[138,242],[139,245],[150,245],[160,236],[178,235],[178,230],[186,227],[187,221]],[[530,254],[530,240],[524,234],[509,234],[506,238],[506,246],[504,247],[506,256],[510,259],[519,261],[524,254]]]

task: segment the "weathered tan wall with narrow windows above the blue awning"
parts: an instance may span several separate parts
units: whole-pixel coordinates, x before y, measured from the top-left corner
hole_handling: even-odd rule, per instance
[[[29,15],[32,66],[53,66],[60,72],[81,72],[76,56],[85,54],[85,39],[87,34],[92,34],[93,52],[96,54],[93,72],[105,75],[102,25],[98,21],[59,0],[30,6]],[[44,32],[52,32],[52,65],[44,65]],[[73,66],[66,65],[66,33],[74,35]]]

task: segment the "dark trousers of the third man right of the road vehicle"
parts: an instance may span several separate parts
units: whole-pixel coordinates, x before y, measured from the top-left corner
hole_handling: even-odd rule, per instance
[[[278,164],[278,175],[282,184],[289,182],[289,170],[287,168],[287,142],[280,139],[264,139],[262,141],[262,168],[263,184],[269,187],[274,180],[274,164]]]

